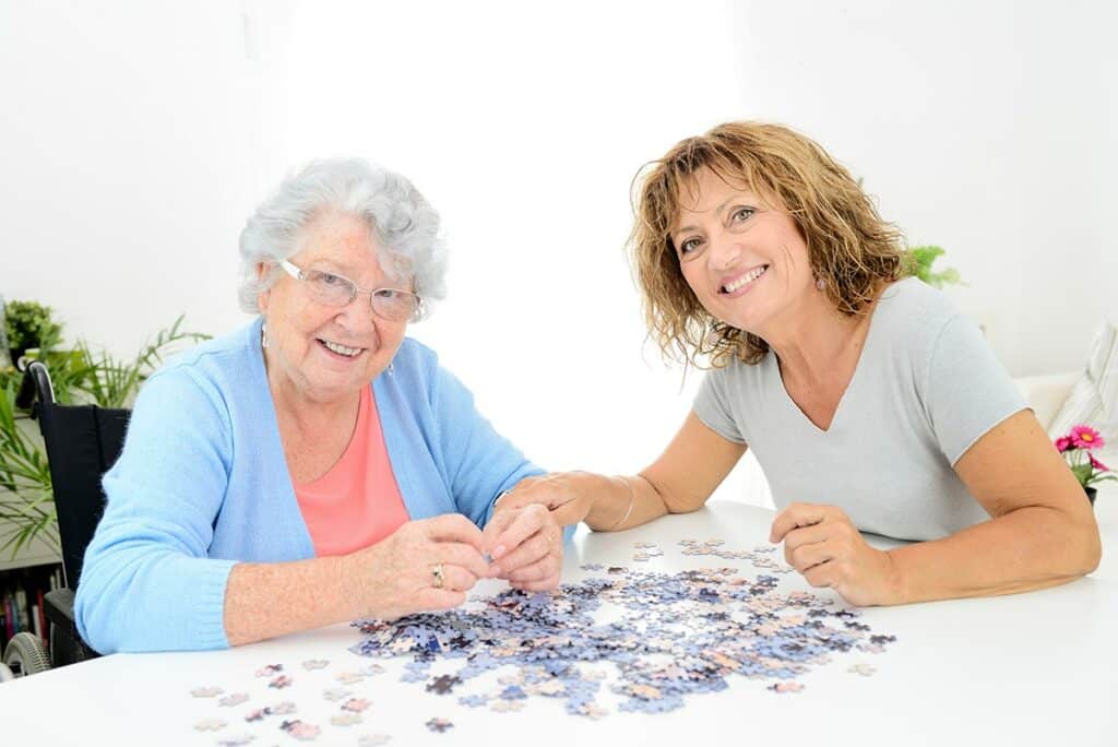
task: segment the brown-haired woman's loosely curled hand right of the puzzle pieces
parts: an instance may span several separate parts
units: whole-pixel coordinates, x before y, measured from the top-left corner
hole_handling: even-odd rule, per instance
[[[859,606],[896,603],[892,557],[870,547],[842,509],[793,503],[773,521],[769,541],[780,540],[784,559],[812,586]]]

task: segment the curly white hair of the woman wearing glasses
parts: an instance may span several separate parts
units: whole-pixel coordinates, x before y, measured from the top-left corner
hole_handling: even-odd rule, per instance
[[[313,161],[284,179],[240,231],[240,308],[257,313],[256,296],[282,272],[274,265],[297,254],[306,227],[323,211],[366,220],[382,247],[386,273],[413,277],[415,292],[429,302],[446,295],[446,253],[438,237],[438,212],[400,174],[361,159]],[[259,263],[273,265],[263,278]]]

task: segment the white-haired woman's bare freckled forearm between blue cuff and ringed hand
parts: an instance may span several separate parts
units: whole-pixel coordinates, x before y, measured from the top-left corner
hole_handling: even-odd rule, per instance
[[[234,566],[225,596],[229,645],[360,617],[353,561],[339,556]]]

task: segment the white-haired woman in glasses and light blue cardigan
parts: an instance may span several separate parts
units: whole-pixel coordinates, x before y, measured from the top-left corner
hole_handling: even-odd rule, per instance
[[[240,301],[259,316],[148,380],[105,475],[75,603],[94,649],[217,649],[452,607],[486,577],[558,584],[548,511],[494,517],[540,470],[405,338],[443,293],[437,228],[361,161],[311,164],[256,210]]]

